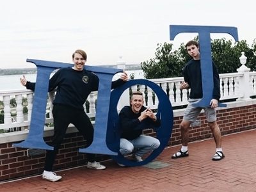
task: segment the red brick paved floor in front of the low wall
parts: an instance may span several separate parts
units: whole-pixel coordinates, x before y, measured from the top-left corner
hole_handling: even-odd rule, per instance
[[[58,172],[58,182],[41,175],[0,184],[0,191],[256,191],[256,130],[223,136],[225,159],[212,161],[214,140],[189,143],[189,157],[171,159],[180,146],[164,149],[154,162],[164,168],[122,168],[114,161],[106,170],[86,166]]]

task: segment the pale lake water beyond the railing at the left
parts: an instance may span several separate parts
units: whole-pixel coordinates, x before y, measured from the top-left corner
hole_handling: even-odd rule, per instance
[[[128,76],[133,73],[134,79],[144,79],[143,70],[127,70],[126,72]],[[0,92],[3,90],[26,90],[26,87],[20,84],[20,77],[22,75],[0,76]],[[36,81],[36,74],[26,74],[25,77],[28,81]],[[114,76],[114,79],[118,79],[118,74]]]

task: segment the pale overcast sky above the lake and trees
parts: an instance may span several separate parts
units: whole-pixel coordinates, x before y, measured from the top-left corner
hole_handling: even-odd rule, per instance
[[[114,65],[119,56],[140,64],[154,58],[158,43],[179,47],[196,36],[170,41],[172,24],[236,27],[252,45],[255,7],[255,0],[1,1],[0,68],[35,67],[27,58],[72,63],[76,49],[88,54],[86,65]]]

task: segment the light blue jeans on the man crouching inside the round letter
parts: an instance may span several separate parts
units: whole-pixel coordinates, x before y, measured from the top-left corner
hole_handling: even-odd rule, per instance
[[[148,152],[158,148],[160,145],[160,141],[151,136],[140,135],[135,140],[126,140],[124,138],[120,139],[120,153],[123,156],[131,154],[131,152],[135,149],[135,154],[137,156],[143,156]]]

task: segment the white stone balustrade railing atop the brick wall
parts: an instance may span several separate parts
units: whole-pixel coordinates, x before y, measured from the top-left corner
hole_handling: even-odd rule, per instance
[[[250,72],[245,76],[243,72],[220,74],[220,87],[221,87],[221,100],[250,100],[250,97],[256,95],[255,77],[256,72]],[[244,79],[248,79],[245,82]],[[166,78],[166,79],[150,79],[150,81],[158,84],[163,88],[164,92],[168,95],[173,107],[183,106],[188,104],[189,90],[180,91],[179,86],[183,81],[183,77]],[[155,97],[154,92],[145,85],[132,86],[131,90],[140,90],[145,95],[145,104],[151,109],[157,109],[158,99]],[[28,129],[31,120],[31,110],[33,105],[33,92],[29,90],[10,90],[0,91],[0,97],[3,97],[4,103],[4,124],[0,124],[0,129],[11,129],[19,127],[20,130]],[[129,104],[129,92],[122,95],[126,100],[125,104]],[[15,98],[17,106],[10,107],[10,100]],[[22,99],[26,98],[27,103],[22,104]],[[49,93],[47,108],[45,109],[45,124],[52,123],[52,100],[54,99],[54,92]],[[84,104],[84,110],[89,117],[95,116],[95,101],[97,100],[97,92],[92,92],[88,97],[88,104]],[[23,114],[23,108],[28,108],[28,113]],[[120,104],[119,106],[124,106]],[[118,109],[119,110],[119,109]],[[16,114],[12,116],[11,114]]]

